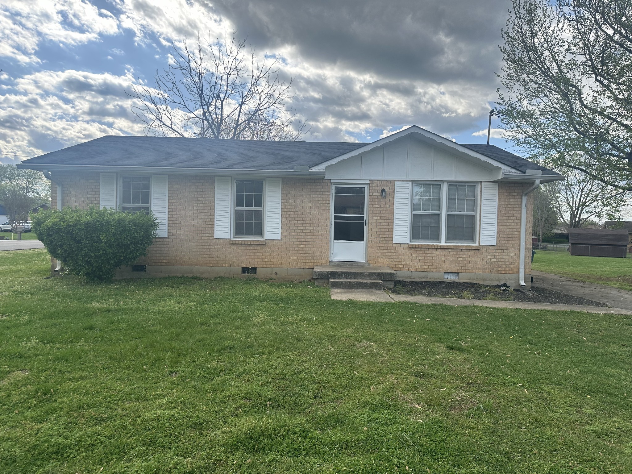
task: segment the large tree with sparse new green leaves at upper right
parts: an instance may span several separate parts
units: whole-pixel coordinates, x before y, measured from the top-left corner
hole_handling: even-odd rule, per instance
[[[632,190],[632,0],[512,3],[498,100],[507,135],[532,156]]]

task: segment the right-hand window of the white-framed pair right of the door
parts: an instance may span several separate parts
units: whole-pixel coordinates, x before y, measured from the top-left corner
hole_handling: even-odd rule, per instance
[[[473,242],[476,185],[447,185],[446,242]]]

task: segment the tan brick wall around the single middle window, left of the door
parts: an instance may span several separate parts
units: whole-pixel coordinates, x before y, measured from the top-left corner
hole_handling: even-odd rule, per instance
[[[148,265],[311,268],[329,262],[329,181],[283,178],[281,240],[231,243],[213,236],[215,178],[169,176],[169,237],[159,238]]]

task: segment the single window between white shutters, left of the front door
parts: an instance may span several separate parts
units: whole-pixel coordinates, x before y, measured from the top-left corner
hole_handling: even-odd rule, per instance
[[[264,181],[235,179],[234,229],[235,237],[263,237]]]

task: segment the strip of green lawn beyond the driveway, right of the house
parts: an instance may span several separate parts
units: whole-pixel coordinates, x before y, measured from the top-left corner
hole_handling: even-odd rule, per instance
[[[580,257],[569,252],[536,250],[533,270],[632,291],[632,255],[627,258]]]

